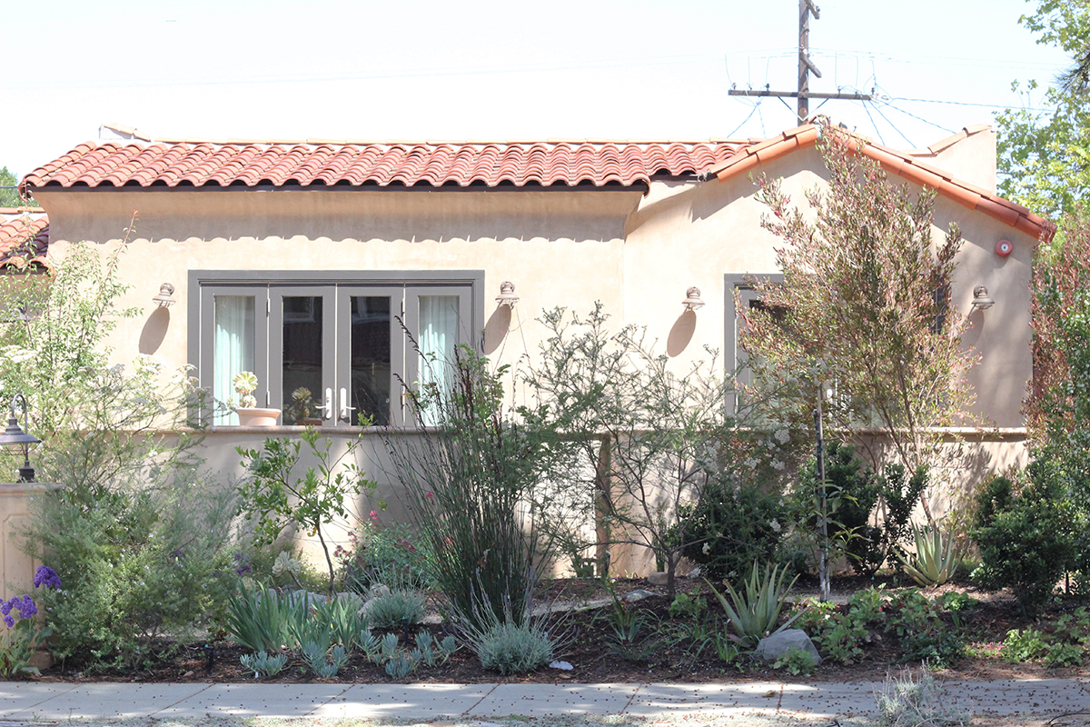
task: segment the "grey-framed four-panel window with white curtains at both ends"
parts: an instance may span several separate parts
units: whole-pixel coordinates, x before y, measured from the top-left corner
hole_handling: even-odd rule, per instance
[[[190,359],[217,401],[237,399],[234,375],[254,372],[257,405],[286,425],[404,424],[401,383],[444,386],[441,362],[483,328],[483,282],[462,270],[194,270]],[[211,423],[238,415],[219,410]]]

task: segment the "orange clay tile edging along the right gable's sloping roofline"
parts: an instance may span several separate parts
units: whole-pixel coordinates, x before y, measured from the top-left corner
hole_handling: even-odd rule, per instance
[[[920,186],[929,186],[969,209],[984,213],[1041,242],[1049,242],[1056,232],[1054,222],[1034,215],[1019,204],[1004,199],[994,192],[954,179],[949,172],[916,158],[917,156],[937,154],[961,138],[983,129],[986,126],[967,128],[927,150],[897,152],[859,136],[853,136],[849,146],[863,156],[874,159],[888,172]],[[724,182],[753,169],[758,165],[767,163],[798,149],[813,146],[818,143],[818,135],[819,128],[812,123],[785,131],[778,136],[758,144],[740,146],[734,156],[713,165],[704,173],[708,177],[714,174],[720,182]]]

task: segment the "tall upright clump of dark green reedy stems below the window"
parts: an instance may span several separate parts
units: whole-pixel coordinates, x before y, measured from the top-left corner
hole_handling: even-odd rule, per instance
[[[427,545],[429,572],[456,618],[485,614],[520,621],[534,580],[534,559],[552,557],[538,500],[545,436],[502,405],[506,367],[460,347],[449,390],[414,391],[422,429],[390,432],[386,446],[405,486],[410,516]],[[438,427],[424,425],[438,423]]]

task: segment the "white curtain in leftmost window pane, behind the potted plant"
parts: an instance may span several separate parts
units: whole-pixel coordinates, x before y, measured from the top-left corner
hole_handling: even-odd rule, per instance
[[[234,375],[240,371],[254,371],[254,311],[253,295],[216,295],[213,397],[217,402],[234,399],[238,403]],[[262,372],[254,373],[258,376],[262,374]],[[239,415],[231,410],[217,407],[213,423],[238,424]]]

